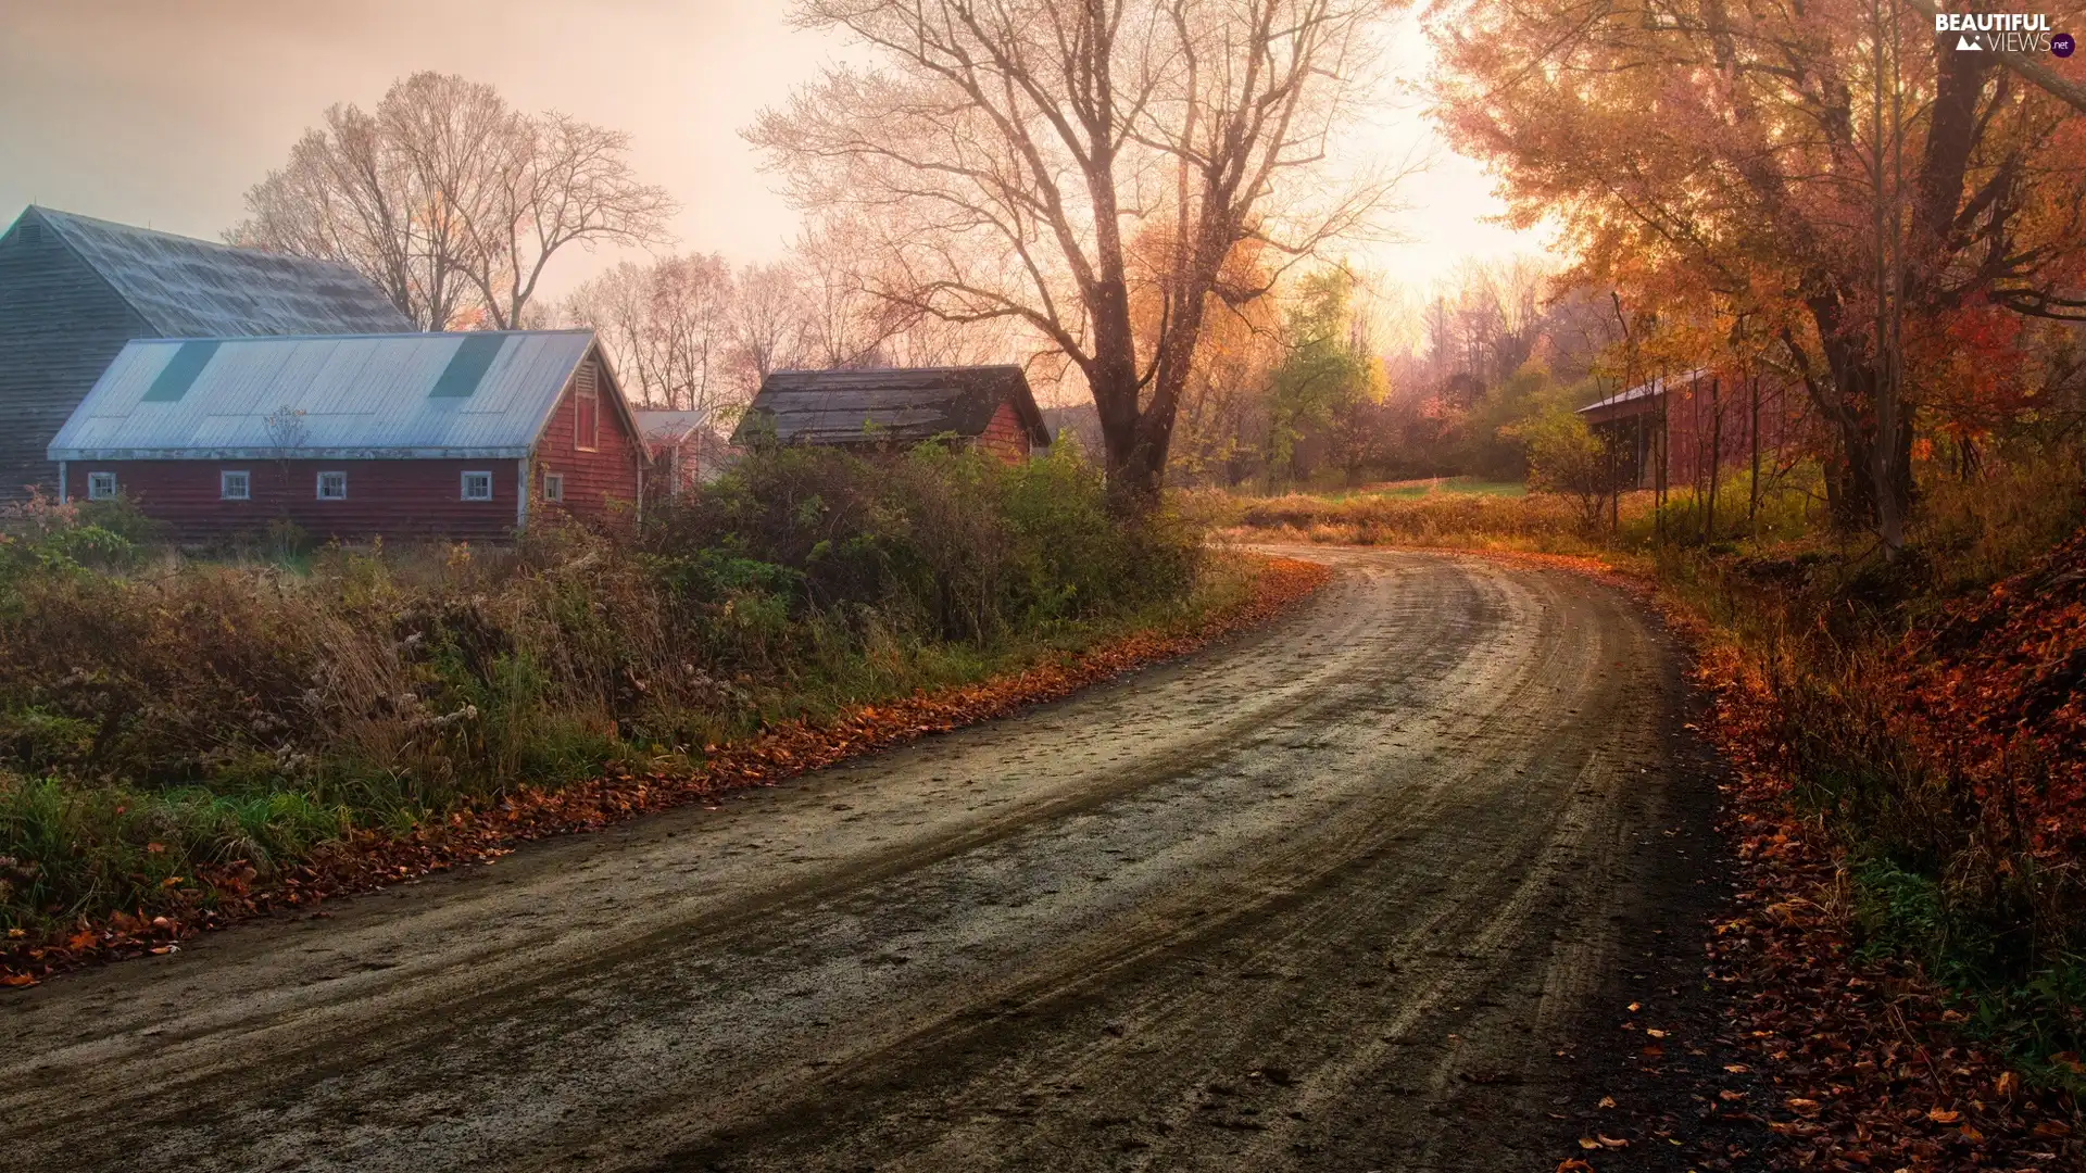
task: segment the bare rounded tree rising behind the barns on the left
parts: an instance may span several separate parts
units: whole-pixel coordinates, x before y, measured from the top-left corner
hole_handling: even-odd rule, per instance
[[[626,154],[622,131],[415,73],[373,113],[328,109],[225,236],[346,263],[423,330],[505,330],[563,246],[661,240],[674,202],[638,184]]]

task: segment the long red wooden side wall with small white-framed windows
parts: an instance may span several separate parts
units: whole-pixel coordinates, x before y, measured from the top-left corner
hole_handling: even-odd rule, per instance
[[[513,459],[363,461],[69,461],[65,486],[88,499],[88,474],[115,472],[117,490],[167,524],[175,541],[259,536],[288,518],[317,541],[503,541],[515,528]],[[246,472],[250,501],[225,501],[219,474]],[[348,474],[346,501],[319,501],[319,474]],[[465,501],[463,474],[490,472],[492,501]]]

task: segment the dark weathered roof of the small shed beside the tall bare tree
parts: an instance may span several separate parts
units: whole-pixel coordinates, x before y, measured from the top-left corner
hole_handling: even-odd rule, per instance
[[[743,445],[766,428],[784,445],[918,442],[943,432],[978,436],[1001,403],[1014,405],[1030,445],[1049,445],[1020,367],[776,372],[753,397],[732,442]]]

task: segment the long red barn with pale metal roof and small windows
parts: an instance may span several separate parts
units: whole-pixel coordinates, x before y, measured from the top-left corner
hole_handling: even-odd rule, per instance
[[[645,449],[592,330],[138,340],[50,442],[65,499],[184,543],[501,541],[634,518]]]

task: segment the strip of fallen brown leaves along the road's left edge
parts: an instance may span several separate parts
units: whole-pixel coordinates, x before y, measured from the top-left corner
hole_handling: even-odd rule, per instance
[[[603,776],[557,791],[517,789],[499,804],[457,812],[444,824],[409,835],[361,831],[317,858],[263,879],[246,862],[200,868],[181,877],[179,900],[156,916],[117,912],[81,920],[52,939],[27,939],[19,929],[0,941],[0,985],[38,981],[83,964],[140,954],[169,954],[196,933],[267,912],[309,908],[328,897],[476,864],[509,854],[513,843],[590,831],[651,810],[711,801],[726,791],[774,785],[780,779],[872,753],[928,733],[947,733],[1026,705],[1066,697],[1089,685],[1195,651],[1220,637],[1279,616],[1327,582],[1331,570],[1287,557],[1262,559],[1254,593],[1195,630],[1133,632],[1064,660],[978,685],[916,693],[880,705],[857,705],[826,724],[768,726],[741,745],[705,747],[705,760],[684,774],[611,766]]]

